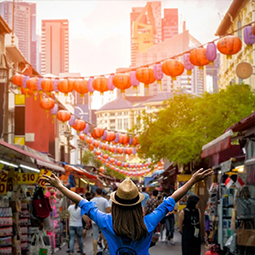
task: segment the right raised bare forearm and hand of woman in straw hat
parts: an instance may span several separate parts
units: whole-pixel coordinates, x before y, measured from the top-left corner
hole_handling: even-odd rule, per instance
[[[181,188],[177,189],[171,196],[175,202],[178,202],[190,189],[191,187],[212,175],[213,171],[211,169],[205,170],[203,168],[195,172],[189,181],[187,181]]]

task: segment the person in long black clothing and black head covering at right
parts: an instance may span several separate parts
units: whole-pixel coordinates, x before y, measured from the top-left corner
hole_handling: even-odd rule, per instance
[[[182,255],[200,255],[201,253],[201,213],[197,209],[199,197],[190,195],[187,205],[179,215],[179,228],[182,234]]]

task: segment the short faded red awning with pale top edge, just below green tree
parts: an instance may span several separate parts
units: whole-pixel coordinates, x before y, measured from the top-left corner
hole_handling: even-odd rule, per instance
[[[229,149],[231,147],[231,136],[233,135],[233,131],[229,130],[223,135],[217,137],[211,142],[207,143],[202,147],[202,155],[201,158],[206,158],[217,154],[221,151]]]

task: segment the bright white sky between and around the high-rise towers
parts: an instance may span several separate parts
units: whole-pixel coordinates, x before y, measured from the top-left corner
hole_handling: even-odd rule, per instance
[[[25,1],[25,0],[24,0]],[[69,72],[82,76],[109,74],[130,65],[130,12],[147,1],[27,0],[37,4],[37,33],[42,19],[69,20]],[[182,22],[202,44],[215,32],[232,0],[163,0],[164,8],[178,8]],[[97,107],[93,107],[97,108]]]

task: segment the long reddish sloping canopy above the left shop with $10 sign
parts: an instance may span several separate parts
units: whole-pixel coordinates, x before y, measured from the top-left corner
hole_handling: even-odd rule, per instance
[[[19,167],[33,167],[48,169],[55,173],[64,173],[60,162],[50,159],[46,154],[38,152],[28,146],[17,146],[0,140],[0,159],[17,164]],[[54,161],[54,162],[53,162]]]

